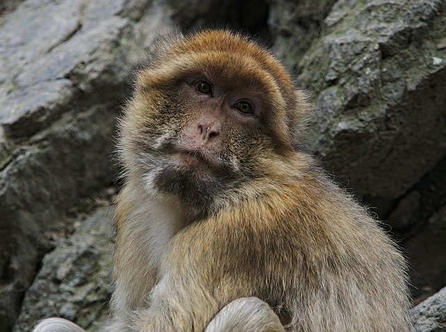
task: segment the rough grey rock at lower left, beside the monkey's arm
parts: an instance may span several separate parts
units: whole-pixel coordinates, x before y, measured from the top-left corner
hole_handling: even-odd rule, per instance
[[[26,291],[13,331],[40,319],[63,317],[96,331],[108,316],[113,261],[113,211],[101,207],[69,239],[43,258]]]

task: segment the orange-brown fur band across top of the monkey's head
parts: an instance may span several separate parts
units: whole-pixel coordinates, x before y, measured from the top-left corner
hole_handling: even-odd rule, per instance
[[[164,42],[160,46],[162,51],[160,50],[159,57],[149,66],[152,70],[157,69],[153,74],[164,70],[169,72],[167,67],[172,65],[171,69],[180,69],[177,75],[195,69],[197,72],[214,74],[214,78],[228,81],[234,88],[238,82],[245,86],[264,84],[268,77],[275,82],[279,92],[286,96],[293,95],[295,90],[293,80],[282,63],[264,47],[238,33],[204,30],[187,38]],[[146,78],[150,78],[148,76]],[[158,80],[151,78],[142,81],[146,84],[162,83],[161,77]],[[169,83],[172,78],[173,76],[169,77]],[[268,90],[272,85],[266,84],[264,88]]]

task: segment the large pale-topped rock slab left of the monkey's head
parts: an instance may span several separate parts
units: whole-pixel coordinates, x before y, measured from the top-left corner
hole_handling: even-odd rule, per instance
[[[12,326],[51,234],[114,181],[128,74],[169,18],[150,1],[20,3],[0,26],[0,331]]]

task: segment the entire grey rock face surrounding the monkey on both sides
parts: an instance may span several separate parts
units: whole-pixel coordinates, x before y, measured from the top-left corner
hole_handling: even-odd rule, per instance
[[[271,44],[314,102],[309,150],[388,219],[415,296],[440,290],[445,10],[440,0],[3,1],[0,332],[47,315],[94,330],[106,316],[112,239],[102,220],[111,221],[99,210],[61,241],[76,219],[66,215],[116,178],[113,136],[130,68],[174,25],[231,22]],[[414,309],[419,331],[443,331],[443,293]]]

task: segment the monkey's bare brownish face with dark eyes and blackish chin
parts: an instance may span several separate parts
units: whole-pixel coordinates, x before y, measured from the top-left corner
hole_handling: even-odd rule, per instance
[[[192,74],[164,92],[170,102],[140,128],[148,187],[208,209],[261,176],[257,159],[274,149],[262,123],[266,103],[259,90],[229,88],[218,77]]]

